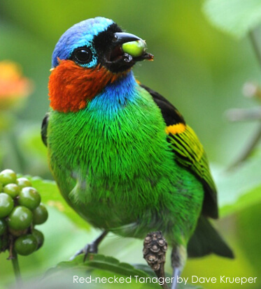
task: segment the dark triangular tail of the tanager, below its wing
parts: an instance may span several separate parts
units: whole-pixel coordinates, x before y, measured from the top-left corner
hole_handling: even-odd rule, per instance
[[[188,242],[188,257],[202,257],[215,253],[227,258],[234,258],[234,254],[215,228],[204,217],[200,216],[197,228]]]

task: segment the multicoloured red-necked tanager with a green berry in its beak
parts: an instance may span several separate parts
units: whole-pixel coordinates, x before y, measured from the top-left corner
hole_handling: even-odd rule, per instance
[[[234,255],[209,221],[218,202],[204,148],[181,112],[136,80],[143,60],[153,60],[145,41],[113,20],[74,24],[52,53],[41,136],[62,197],[102,231],[78,253],[97,253],[108,232],[160,230],[175,279],[188,257]]]

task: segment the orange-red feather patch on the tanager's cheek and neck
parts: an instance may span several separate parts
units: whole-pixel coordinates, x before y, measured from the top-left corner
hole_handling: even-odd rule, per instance
[[[119,76],[103,66],[84,68],[62,60],[49,77],[50,107],[59,112],[77,112]]]

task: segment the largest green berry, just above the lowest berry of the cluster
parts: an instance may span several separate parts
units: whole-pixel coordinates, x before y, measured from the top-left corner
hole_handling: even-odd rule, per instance
[[[24,230],[31,225],[33,214],[27,207],[18,206],[13,209],[7,219],[9,228],[13,230]]]

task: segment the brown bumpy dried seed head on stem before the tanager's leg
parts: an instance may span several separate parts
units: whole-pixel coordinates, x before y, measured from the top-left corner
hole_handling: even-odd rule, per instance
[[[162,232],[150,232],[143,242],[143,258],[157,275],[157,278],[165,280],[164,263],[166,260],[168,244]],[[167,283],[162,284],[162,288],[168,289]]]

